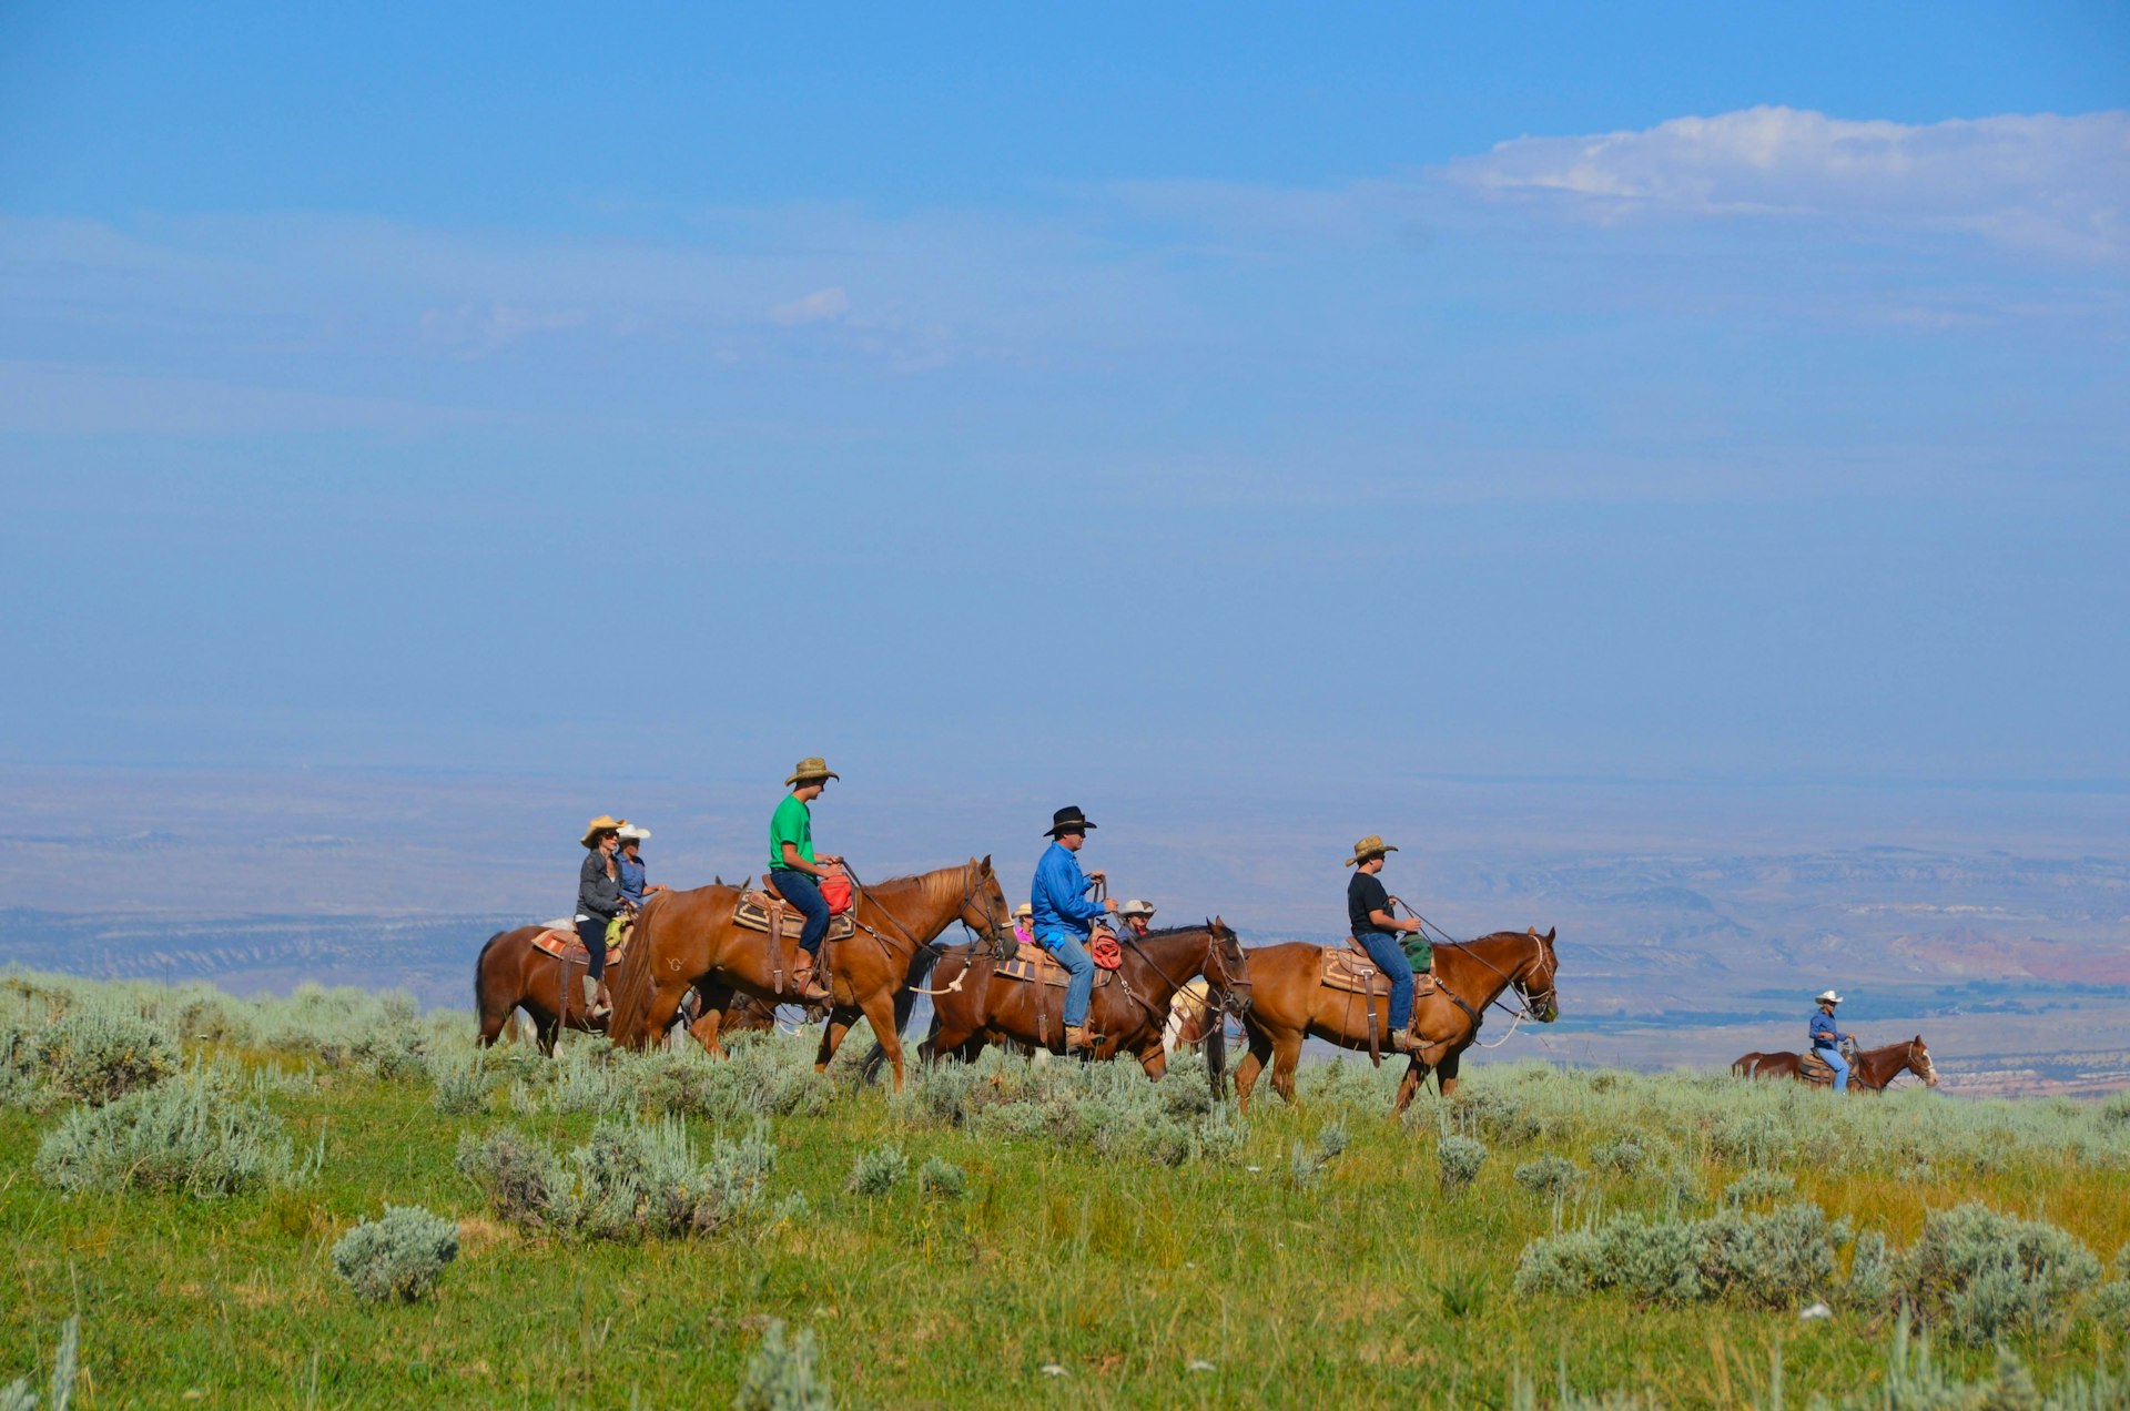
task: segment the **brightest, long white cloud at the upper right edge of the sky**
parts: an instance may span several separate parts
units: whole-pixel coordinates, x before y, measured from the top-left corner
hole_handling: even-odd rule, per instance
[[[1936,124],[1783,107],[1634,132],[1519,136],[1451,183],[1574,215],[1791,217],[1966,230],[2055,256],[2130,258],[2130,113]]]

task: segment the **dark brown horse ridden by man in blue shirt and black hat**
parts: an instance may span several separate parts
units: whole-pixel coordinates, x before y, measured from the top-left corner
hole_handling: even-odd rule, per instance
[[[1242,940],[1214,917],[1206,925],[1169,927],[1146,936],[1118,936],[1125,963],[1116,978],[1095,987],[1086,1012],[1097,1036],[1091,1057],[1129,1053],[1159,1078],[1169,1068],[1161,1027],[1169,1000],[1184,980],[1203,974],[1216,1004],[1248,1006],[1250,970]],[[982,946],[954,946],[933,968],[933,1027],[918,1057],[941,1053],[976,1057],[986,1044],[1020,1042],[1065,1053],[1065,991],[1033,980],[1012,980]],[[1218,1032],[1218,1023],[1214,1029]],[[1206,1061],[1214,1089],[1225,1081],[1225,1055],[1208,1040]]]

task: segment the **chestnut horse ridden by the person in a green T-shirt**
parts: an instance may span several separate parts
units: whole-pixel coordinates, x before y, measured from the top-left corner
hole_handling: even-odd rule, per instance
[[[705,1008],[692,1032],[703,1049],[722,1057],[718,1021],[728,1004],[724,991],[771,1004],[782,1000],[769,938],[735,925],[737,908],[735,887],[697,887],[652,897],[637,919],[637,936],[613,985],[613,1042],[645,1047],[671,1021],[688,987],[699,987]],[[895,1087],[901,1089],[903,1044],[895,1029],[895,991],[910,974],[918,948],[929,946],[954,921],[995,944],[1010,936],[1005,893],[999,891],[990,859],[971,857],[956,867],[856,887],[852,912],[858,931],[850,940],[822,946],[820,968],[831,1000],[814,1070],[829,1068],[843,1036],[863,1015],[886,1049],[895,1066]],[[788,983],[797,946],[788,940],[782,944]]]

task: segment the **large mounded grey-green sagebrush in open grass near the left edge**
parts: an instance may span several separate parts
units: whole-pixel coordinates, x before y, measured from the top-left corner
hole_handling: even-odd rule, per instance
[[[300,1185],[313,1170],[315,1162],[296,1162],[281,1119],[215,1070],[75,1108],[36,1149],[38,1179],[62,1191],[183,1191],[219,1200]]]

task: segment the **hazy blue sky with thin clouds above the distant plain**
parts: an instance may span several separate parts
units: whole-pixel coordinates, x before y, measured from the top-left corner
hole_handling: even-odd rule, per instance
[[[1338,11],[9,6],[0,757],[2130,782],[2124,6]]]

